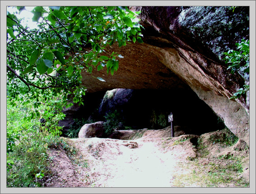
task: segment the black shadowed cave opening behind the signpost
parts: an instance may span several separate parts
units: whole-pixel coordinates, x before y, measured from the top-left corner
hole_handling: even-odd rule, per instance
[[[185,134],[201,135],[225,127],[213,110],[193,90],[187,89],[114,89],[88,93],[78,115],[104,121],[104,116],[115,111],[126,129],[163,129],[170,126],[171,112],[175,130]]]

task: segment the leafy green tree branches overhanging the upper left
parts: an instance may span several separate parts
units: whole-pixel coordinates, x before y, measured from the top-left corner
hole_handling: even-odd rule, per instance
[[[106,66],[113,75],[123,56],[107,54],[105,48],[115,42],[119,47],[129,41],[143,42],[139,12],[127,7],[38,6],[32,10],[38,29],[23,27],[18,12],[7,12],[7,95],[23,104],[36,99],[37,107],[40,98],[52,96],[59,96],[66,107],[72,105],[69,98],[83,104],[86,88],[81,85],[81,72]]]

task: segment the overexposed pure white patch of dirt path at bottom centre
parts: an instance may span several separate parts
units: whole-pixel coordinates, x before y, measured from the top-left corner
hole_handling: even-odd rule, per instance
[[[121,154],[115,155],[112,160],[102,160],[105,179],[96,181],[96,186],[104,187],[170,187],[170,180],[176,161],[171,154],[160,153],[153,142],[138,142],[138,147],[130,149],[120,145]]]

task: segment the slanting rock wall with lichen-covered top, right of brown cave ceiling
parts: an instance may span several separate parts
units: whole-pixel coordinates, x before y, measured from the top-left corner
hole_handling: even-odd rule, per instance
[[[249,39],[249,7],[141,7],[141,23],[154,27],[173,44],[159,60],[223,118],[225,125],[249,144],[249,96],[229,98],[249,77],[230,75],[221,53]],[[167,19],[163,19],[167,18]],[[147,28],[145,28],[145,32]],[[155,35],[154,35],[155,36]]]

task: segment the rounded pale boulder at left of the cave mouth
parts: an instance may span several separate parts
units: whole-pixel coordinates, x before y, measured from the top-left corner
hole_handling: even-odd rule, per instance
[[[99,121],[82,126],[79,131],[79,138],[105,137],[104,122]]]

